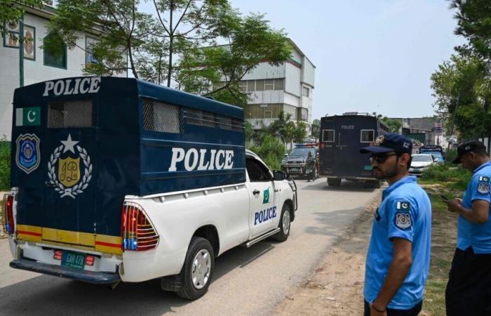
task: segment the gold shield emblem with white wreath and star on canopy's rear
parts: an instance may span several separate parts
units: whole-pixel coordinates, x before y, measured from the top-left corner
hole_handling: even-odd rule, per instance
[[[60,197],[75,199],[76,195],[86,190],[92,178],[93,166],[87,151],[76,145],[79,141],[72,140],[70,134],[67,140],[61,140],[61,143],[49,159],[48,177],[54,190],[60,193]]]

